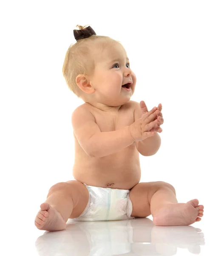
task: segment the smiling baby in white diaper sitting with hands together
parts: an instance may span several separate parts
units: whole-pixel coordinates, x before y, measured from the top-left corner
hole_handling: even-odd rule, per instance
[[[131,101],[136,76],[122,44],[90,26],[78,27],[63,65],[68,87],[85,102],[71,116],[75,180],[50,188],[36,227],[65,230],[68,218],[113,221],[151,214],[158,226],[200,221],[204,206],[197,199],[178,203],[169,183],[139,183],[139,153],[151,156],[160,147],[162,105],[148,111],[145,102]]]

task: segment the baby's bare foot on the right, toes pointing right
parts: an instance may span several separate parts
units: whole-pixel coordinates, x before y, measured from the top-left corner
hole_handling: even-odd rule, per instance
[[[156,226],[185,226],[201,221],[204,206],[198,205],[198,199],[183,203],[167,204],[153,216]],[[198,217],[199,216],[199,217]]]

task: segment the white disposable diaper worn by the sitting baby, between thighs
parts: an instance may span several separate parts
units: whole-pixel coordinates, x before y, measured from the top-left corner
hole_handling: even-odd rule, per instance
[[[119,221],[133,219],[129,189],[111,189],[88,186],[89,201],[78,221]]]

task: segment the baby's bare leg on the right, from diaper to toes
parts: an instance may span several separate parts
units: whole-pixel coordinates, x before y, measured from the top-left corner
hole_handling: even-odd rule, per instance
[[[129,198],[133,207],[131,216],[145,218],[152,214],[157,226],[190,225],[200,221],[204,212],[197,199],[178,203],[174,187],[162,181],[136,184]]]

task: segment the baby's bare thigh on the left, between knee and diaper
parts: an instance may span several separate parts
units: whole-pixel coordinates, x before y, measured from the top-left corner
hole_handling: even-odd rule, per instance
[[[66,183],[70,184],[72,200],[75,202],[69,218],[77,218],[82,214],[88,204],[89,192],[86,186],[77,180],[69,180]]]

